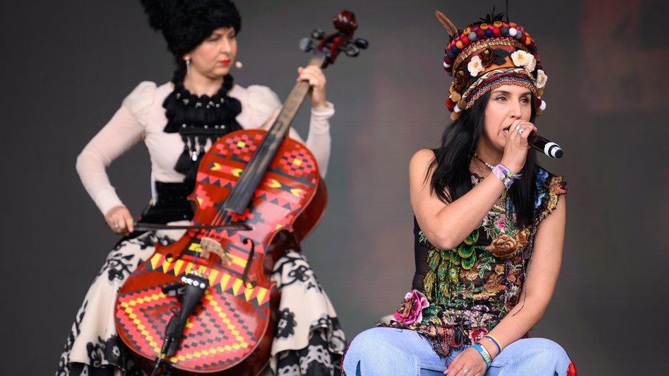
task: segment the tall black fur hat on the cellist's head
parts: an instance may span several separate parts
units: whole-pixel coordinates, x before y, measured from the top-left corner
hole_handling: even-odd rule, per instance
[[[149,25],[160,30],[176,57],[193,51],[219,27],[241,29],[239,11],[230,0],[140,0]]]

